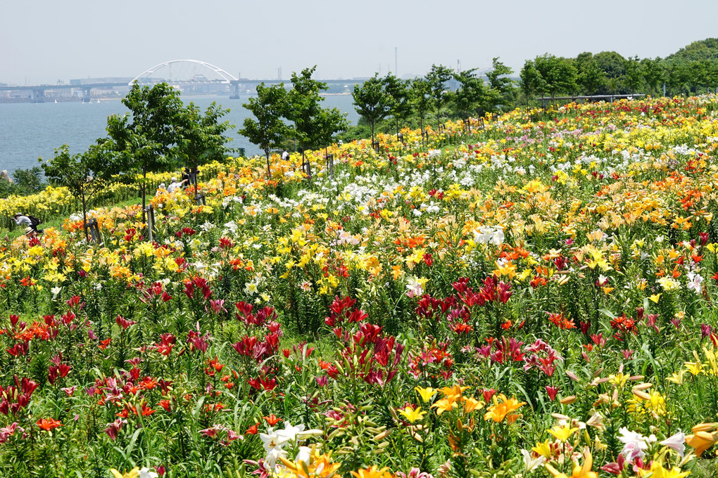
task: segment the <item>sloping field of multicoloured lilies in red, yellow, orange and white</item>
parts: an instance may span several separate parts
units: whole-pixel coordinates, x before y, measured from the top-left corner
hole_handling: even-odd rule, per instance
[[[153,242],[139,206],[4,242],[0,475],[715,476],[717,110],[231,159]]]

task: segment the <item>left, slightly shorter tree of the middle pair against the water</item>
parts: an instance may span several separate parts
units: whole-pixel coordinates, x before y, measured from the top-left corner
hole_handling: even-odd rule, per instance
[[[281,141],[290,133],[282,117],[286,113],[287,92],[284,84],[264,86],[257,85],[257,97],[249,98],[243,106],[252,112],[256,120],[244,119],[244,128],[239,134],[246,136],[251,143],[264,150],[267,158],[267,177],[271,176],[269,166],[269,153],[272,148],[278,148]]]

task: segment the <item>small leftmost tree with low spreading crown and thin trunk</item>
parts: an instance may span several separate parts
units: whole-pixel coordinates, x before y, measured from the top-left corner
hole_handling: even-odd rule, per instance
[[[88,239],[87,205],[92,196],[106,186],[114,172],[113,153],[103,143],[91,145],[85,153],[71,155],[67,145],[55,149],[55,157],[42,163],[42,170],[50,183],[65,186],[80,199],[83,207],[83,227]]]

